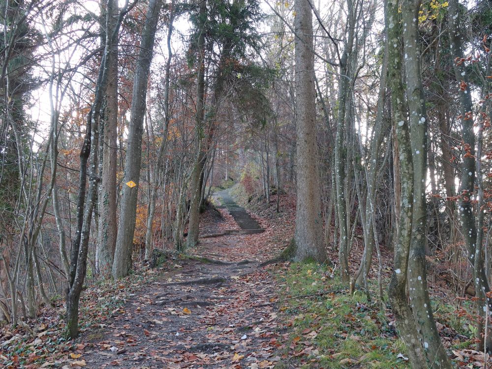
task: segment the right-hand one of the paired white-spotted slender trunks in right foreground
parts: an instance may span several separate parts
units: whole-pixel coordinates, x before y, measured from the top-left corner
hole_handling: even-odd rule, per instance
[[[420,0],[407,0],[402,6],[405,53],[406,97],[410,109],[411,150],[413,159],[412,235],[408,263],[411,309],[422,336],[421,344],[432,368],[449,368],[451,363],[435,327],[427,288],[427,125],[426,103],[420,70],[418,19]],[[409,215],[408,215],[409,216]]]

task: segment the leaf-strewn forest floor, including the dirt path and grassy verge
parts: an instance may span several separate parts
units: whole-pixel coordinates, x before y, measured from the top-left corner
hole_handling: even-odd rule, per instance
[[[261,204],[245,202],[263,233],[202,238],[196,249],[156,269],[88,287],[75,341],[61,337],[62,305],[31,332],[1,330],[0,366],[3,360],[6,368],[409,368],[376,285],[369,296],[349,294],[326,265],[261,265],[292,238],[295,202],[282,197],[280,215]],[[201,235],[227,229],[239,226],[225,209],[203,215]],[[382,251],[388,278],[391,252]],[[328,252],[336,260],[335,250]],[[375,262],[371,280],[376,270]],[[473,307],[447,300],[445,291],[433,281],[437,325],[450,357],[459,368],[484,368],[470,339]]]

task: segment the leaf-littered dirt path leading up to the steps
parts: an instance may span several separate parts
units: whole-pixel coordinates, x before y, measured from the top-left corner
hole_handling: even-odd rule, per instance
[[[258,266],[262,236],[202,239],[196,258],[174,260],[112,324],[83,335],[87,368],[273,368],[277,310],[259,305],[277,287]]]

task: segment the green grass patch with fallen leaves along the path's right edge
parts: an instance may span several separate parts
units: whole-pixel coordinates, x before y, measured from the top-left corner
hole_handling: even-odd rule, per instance
[[[325,272],[326,267],[316,263],[292,263],[289,270],[277,275],[282,286],[279,298],[343,287],[337,277],[330,278]],[[360,308],[360,304],[364,307]],[[368,302],[362,292],[290,300],[279,305],[279,309],[292,322],[290,342],[282,353],[288,355],[290,346],[296,344],[296,352],[306,344],[317,350],[308,357],[300,357],[299,368],[410,368],[407,362],[397,358],[399,353],[405,355],[405,347],[388,326],[385,310],[381,304]],[[303,335],[306,329],[315,330],[317,336],[306,338]],[[281,369],[282,365],[276,368]]]

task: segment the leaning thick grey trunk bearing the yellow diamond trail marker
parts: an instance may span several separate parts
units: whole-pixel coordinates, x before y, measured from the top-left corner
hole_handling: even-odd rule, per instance
[[[124,168],[124,183],[133,181],[136,186],[131,188],[123,185],[119,232],[116,239],[115,257],[113,262],[113,277],[121,278],[131,269],[131,254],[133,250],[133,234],[137,212],[138,183],[140,178],[140,163],[142,159],[142,134],[146,111],[147,83],[150,66],[154,54],[155,31],[162,0],[150,0],[145,18],[140,52],[133,79],[131,100],[130,126],[128,129],[128,147]]]

